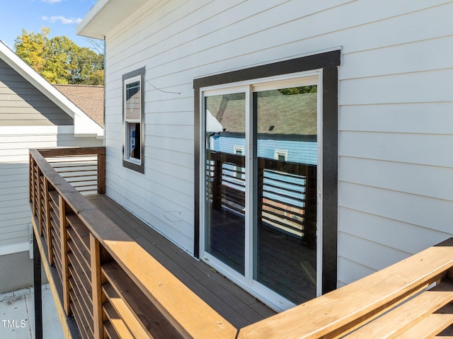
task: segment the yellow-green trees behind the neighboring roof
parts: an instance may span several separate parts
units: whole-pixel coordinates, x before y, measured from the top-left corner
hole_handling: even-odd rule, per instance
[[[39,34],[22,30],[15,40],[16,54],[52,84],[103,84],[103,54],[66,36],[50,39],[49,33],[49,28]]]

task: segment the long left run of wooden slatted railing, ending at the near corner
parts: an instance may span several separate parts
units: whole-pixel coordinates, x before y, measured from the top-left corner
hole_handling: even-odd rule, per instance
[[[58,152],[30,150],[30,202],[42,260],[55,267],[59,302],[81,337],[234,338],[236,328],[55,171],[45,156]]]

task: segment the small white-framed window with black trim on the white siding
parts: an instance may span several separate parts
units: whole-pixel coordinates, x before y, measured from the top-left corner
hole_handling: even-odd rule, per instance
[[[144,173],[144,68],[122,76],[125,140],[123,166]]]

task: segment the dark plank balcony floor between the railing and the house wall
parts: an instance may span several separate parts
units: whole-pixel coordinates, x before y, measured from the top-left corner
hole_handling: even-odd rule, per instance
[[[88,195],[115,224],[236,328],[275,314],[255,297],[196,260],[106,195]]]

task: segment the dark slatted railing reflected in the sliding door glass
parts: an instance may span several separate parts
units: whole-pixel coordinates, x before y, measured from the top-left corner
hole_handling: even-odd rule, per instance
[[[238,214],[245,209],[244,156],[219,151],[207,154],[207,194],[212,207]],[[316,165],[258,158],[259,222],[306,243],[316,243]]]

